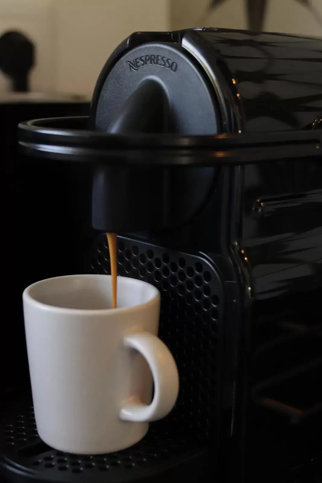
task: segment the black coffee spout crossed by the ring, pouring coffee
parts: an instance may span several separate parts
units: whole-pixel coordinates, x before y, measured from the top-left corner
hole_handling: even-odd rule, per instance
[[[169,104],[163,87],[143,82],[126,99],[108,128],[113,134],[162,133],[170,127]],[[100,231],[154,228],[163,223],[161,170],[98,166],[93,176],[92,225]],[[149,205],[149,206],[148,206]]]

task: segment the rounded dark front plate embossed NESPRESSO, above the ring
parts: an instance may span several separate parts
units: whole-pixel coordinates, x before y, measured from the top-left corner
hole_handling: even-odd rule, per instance
[[[182,135],[222,130],[217,97],[206,71],[180,43],[143,43],[119,58],[100,83],[92,103],[98,130]],[[132,122],[120,127],[118,119],[126,116]]]

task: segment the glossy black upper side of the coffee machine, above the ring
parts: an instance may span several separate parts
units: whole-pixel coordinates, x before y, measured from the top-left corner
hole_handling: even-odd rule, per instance
[[[302,129],[322,113],[322,40],[200,31],[231,72],[249,132]]]

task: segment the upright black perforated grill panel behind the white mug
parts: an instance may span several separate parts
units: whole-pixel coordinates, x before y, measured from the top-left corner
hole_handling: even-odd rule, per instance
[[[110,273],[106,236],[91,250],[91,271]],[[166,421],[180,434],[214,440],[220,419],[223,287],[210,262],[129,238],[118,238],[118,274],[161,292],[159,337],[174,356],[180,392]]]

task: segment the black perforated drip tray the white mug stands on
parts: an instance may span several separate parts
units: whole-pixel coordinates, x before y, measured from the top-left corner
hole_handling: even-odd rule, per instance
[[[152,424],[139,443],[117,453],[56,451],[39,438],[30,401],[20,401],[1,420],[0,475],[6,481],[155,483],[179,477],[191,481],[208,471],[208,450],[162,422]]]

